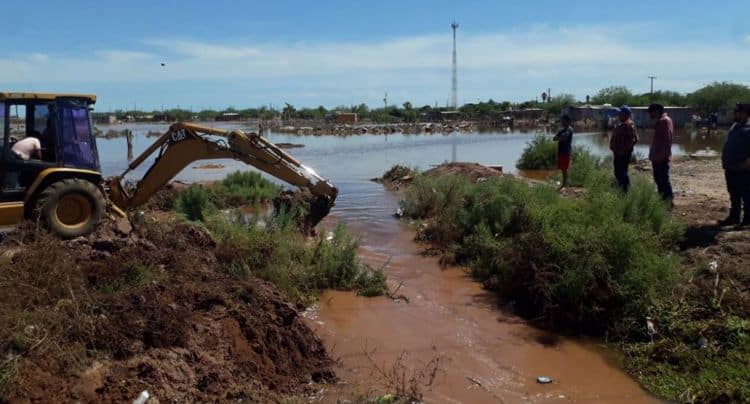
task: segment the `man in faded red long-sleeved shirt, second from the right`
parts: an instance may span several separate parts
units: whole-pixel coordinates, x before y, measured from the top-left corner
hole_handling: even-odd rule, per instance
[[[651,104],[648,107],[648,113],[651,119],[656,121],[654,126],[654,140],[651,142],[651,148],[648,151],[648,159],[654,171],[654,182],[659,190],[659,195],[669,205],[674,207],[672,199],[672,184],[669,182],[669,163],[672,160],[672,136],[674,135],[674,125],[672,118],[664,112],[664,106],[661,104]]]

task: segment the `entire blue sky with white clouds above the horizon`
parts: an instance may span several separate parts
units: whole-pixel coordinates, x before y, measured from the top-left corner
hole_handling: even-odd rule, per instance
[[[750,84],[747,0],[7,3],[0,89],[93,92],[100,111],[444,105],[452,19],[460,103]]]

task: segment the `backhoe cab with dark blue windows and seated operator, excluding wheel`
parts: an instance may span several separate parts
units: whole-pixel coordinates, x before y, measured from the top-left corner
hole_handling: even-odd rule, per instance
[[[89,120],[94,102],[93,95],[0,93],[0,201],[19,200],[49,168],[99,171]],[[28,138],[38,140],[40,154],[23,152],[36,143]],[[14,150],[21,141],[26,147]]]

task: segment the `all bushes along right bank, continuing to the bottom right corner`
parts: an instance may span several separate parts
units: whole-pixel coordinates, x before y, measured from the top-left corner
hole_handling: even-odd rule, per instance
[[[465,265],[518,314],[618,344],[626,370],[655,394],[750,400],[748,305],[717,306],[713,275],[680,250],[685,225],[649,179],[634,176],[623,194],[605,164],[588,161],[576,197],[508,177],[416,175],[403,213],[443,262]],[[735,275],[750,285],[746,271]]]

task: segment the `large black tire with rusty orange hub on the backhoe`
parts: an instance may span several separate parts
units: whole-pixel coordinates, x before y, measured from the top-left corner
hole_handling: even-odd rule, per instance
[[[85,236],[104,214],[104,197],[90,181],[65,179],[47,186],[37,198],[36,217],[62,238]]]

